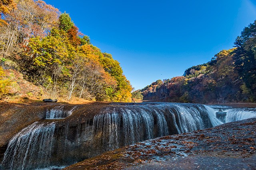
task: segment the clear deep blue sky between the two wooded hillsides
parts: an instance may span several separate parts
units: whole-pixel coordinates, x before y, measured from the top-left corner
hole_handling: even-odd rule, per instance
[[[118,60],[135,89],[181,76],[232,48],[255,0],[45,0]]]

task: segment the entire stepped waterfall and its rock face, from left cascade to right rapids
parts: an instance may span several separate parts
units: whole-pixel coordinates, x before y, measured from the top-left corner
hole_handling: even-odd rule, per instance
[[[76,106],[56,106],[46,109],[45,115],[46,119],[12,137],[0,168],[63,168],[139,141],[256,117],[256,111],[201,104],[115,103],[92,117],[83,116]]]

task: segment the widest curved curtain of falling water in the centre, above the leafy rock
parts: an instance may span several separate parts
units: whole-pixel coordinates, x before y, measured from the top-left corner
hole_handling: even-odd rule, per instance
[[[139,141],[222,124],[215,110],[200,104],[113,105],[94,117],[93,139],[113,150]]]

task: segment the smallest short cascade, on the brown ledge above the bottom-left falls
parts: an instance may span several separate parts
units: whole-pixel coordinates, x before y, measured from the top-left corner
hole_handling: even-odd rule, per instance
[[[53,109],[46,111],[46,119],[60,119],[72,115],[73,107],[71,110],[64,110],[64,106],[56,106]]]

